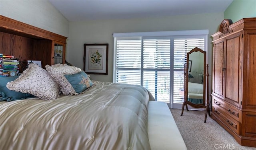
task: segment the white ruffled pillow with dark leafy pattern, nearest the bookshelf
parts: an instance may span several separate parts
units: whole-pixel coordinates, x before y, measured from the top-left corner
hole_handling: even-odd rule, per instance
[[[6,87],[16,92],[29,93],[44,100],[60,97],[60,87],[52,76],[37,64],[30,64],[16,80]]]

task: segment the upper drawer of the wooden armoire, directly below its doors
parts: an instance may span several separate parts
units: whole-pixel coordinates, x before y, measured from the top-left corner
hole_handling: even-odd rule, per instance
[[[239,121],[239,115],[240,115],[240,110],[233,107],[232,105],[228,104],[228,103],[225,103],[224,101],[216,98],[216,97],[213,97],[213,102],[214,102],[214,107],[220,107],[220,109],[230,115],[230,117],[236,119],[236,121]]]

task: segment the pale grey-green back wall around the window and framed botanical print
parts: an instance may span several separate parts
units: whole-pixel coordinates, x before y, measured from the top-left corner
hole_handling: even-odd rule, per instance
[[[112,33],[208,29],[208,64],[210,65],[209,70],[212,70],[211,35],[218,31],[223,19],[223,13],[211,13],[157,18],[70,22],[66,60],[79,68],[83,68],[83,44],[108,43],[108,75],[93,74],[90,78],[92,80],[112,82],[114,44]]]

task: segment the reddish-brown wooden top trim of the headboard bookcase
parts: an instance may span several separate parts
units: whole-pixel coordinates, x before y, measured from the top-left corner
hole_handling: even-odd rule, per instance
[[[67,37],[0,15],[0,31],[35,39],[66,43]]]

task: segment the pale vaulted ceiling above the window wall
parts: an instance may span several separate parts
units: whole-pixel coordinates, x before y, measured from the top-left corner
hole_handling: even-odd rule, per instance
[[[233,0],[49,0],[69,21],[224,12]]]

